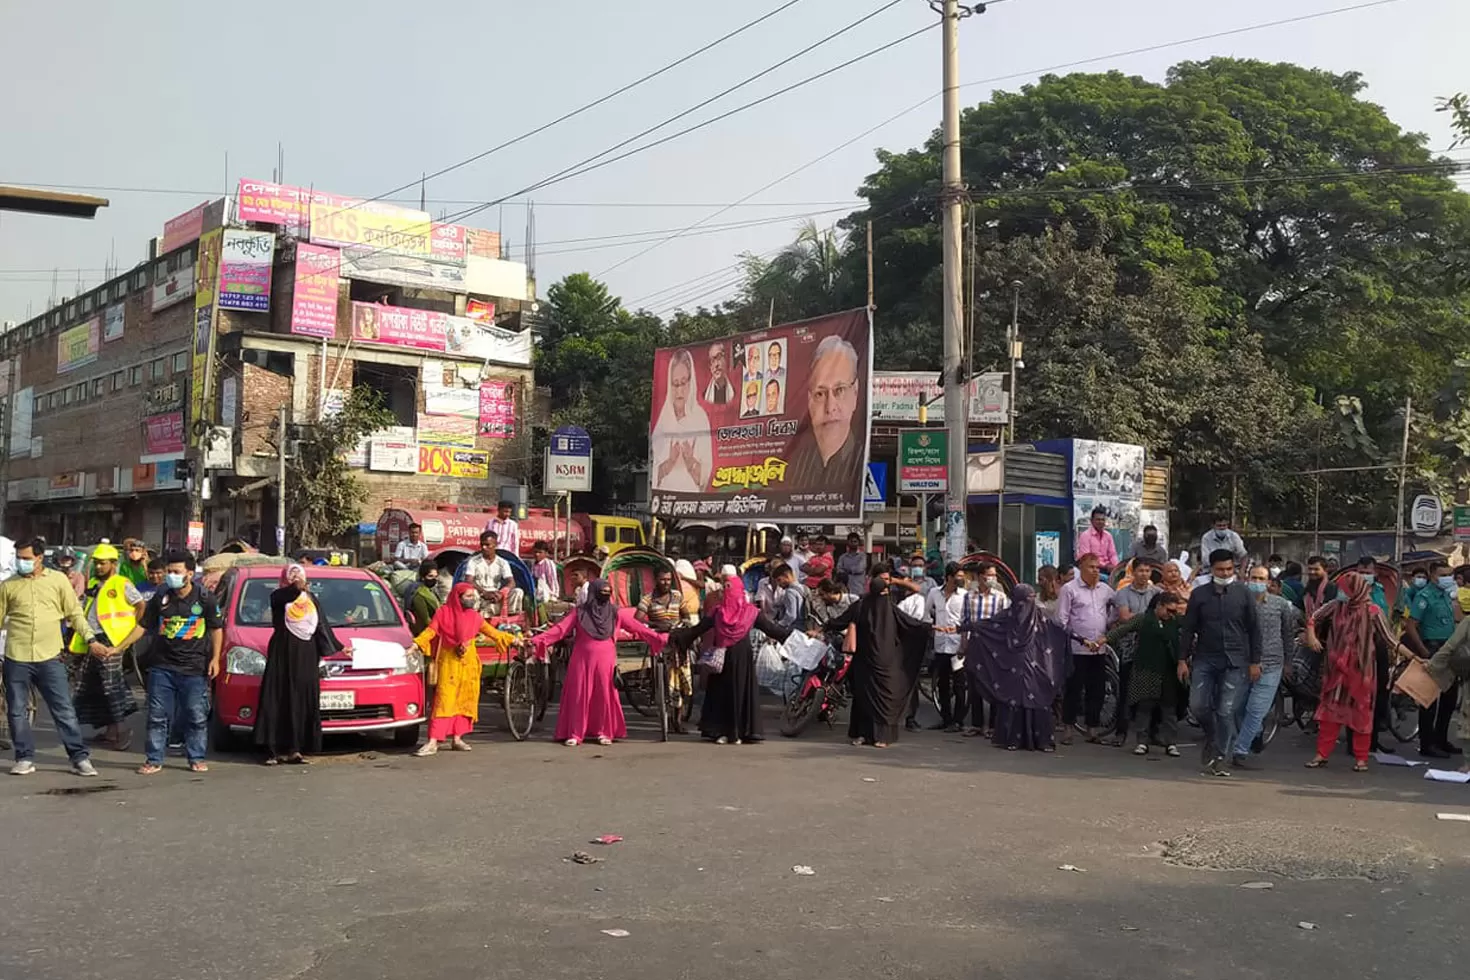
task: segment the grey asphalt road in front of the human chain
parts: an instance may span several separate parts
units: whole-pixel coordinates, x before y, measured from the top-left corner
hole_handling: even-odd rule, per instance
[[[1470,824],[1435,814],[1470,814],[1470,786],[1307,771],[1297,733],[1233,780],[1188,751],[839,736],[490,732],[431,760],[338,742],[310,767],[148,779],[98,754],[81,780],[43,735],[43,771],[0,780],[0,977],[1464,973]],[[607,833],[625,840],[589,843]]]

